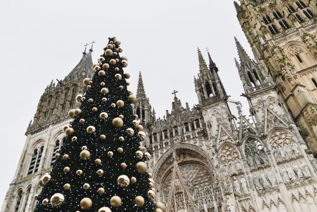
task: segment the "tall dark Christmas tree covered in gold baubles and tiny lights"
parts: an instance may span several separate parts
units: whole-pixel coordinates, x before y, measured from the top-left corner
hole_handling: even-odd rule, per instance
[[[39,181],[44,188],[35,212],[165,211],[152,202],[154,181],[145,163],[151,155],[139,146],[146,135],[133,115],[136,97],[127,89],[120,44],[109,38],[94,77],[84,79],[87,92],[76,96],[81,107],[68,112],[74,120],[63,127],[67,139],[51,173]]]

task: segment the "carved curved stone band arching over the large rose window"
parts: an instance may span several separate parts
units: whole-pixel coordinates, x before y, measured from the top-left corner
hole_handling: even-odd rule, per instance
[[[208,168],[214,172],[215,168],[213,165],[213,159],[211,158],[210,154],[205,152],[202,148],[197,147],[195,145],[192,144],[185,144],[185,143],[178,143],[176,145],[174,145],[173,147],[171,147],[169,150],[167,150],[159,159],[159,161],[157,161],[154,169],[153,169],[153,179],[155,182],[158,182],[158,179],[160,176],[158,176],[159,171],[161,170],[163,164],[165,163],[165,161],[173,154],[174,151],[178,150],[178,149],[186,149],[186,150],[190,150],[193,153],[196,153],[197,155],[199,155],[204,161],[206,161]]]

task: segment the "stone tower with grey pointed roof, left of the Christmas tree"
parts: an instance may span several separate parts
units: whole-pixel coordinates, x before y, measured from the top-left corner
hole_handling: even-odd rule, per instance
[[[49,172],[55,162],[55,151],[60,149],[65,139],[62,127],[70,121],[68,111],[77,108],[77,94],[86,88],[82,81],[93,77],[92,48],[83,52],[80,62],[58,84],[52,82],[42,94],[36,113],[26,131],[18,167],[5,196],[1,212],[31,212],[35,207],[34,195],[39,194],[38,185],[43,174]]]

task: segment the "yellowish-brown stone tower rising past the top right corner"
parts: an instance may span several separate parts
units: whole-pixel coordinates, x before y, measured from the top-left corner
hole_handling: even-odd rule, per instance
[[[264,72],[317,154],[316,0],[240,0],[237,17]],[[250,72],[252,75],[252,72]]]

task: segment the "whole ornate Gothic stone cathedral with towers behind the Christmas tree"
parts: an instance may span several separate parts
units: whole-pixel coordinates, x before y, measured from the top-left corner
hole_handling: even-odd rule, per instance
[[[209,52],[205,60],[197,50],[197,105],[183,105],[174,91],[163,118],[156,118],[140,72],[133,112],[147,135],[141,145],[152,155],[147,165],[166,212],[317,211],[316,4],[234,2],[254,53],[250,58],[235,38],[248,117],[228,99]],[[37,182],[63,145],[67,112],[79,107],[75,96],[94,74],[91,52],[41,96],[1,212],[33,211]]]

